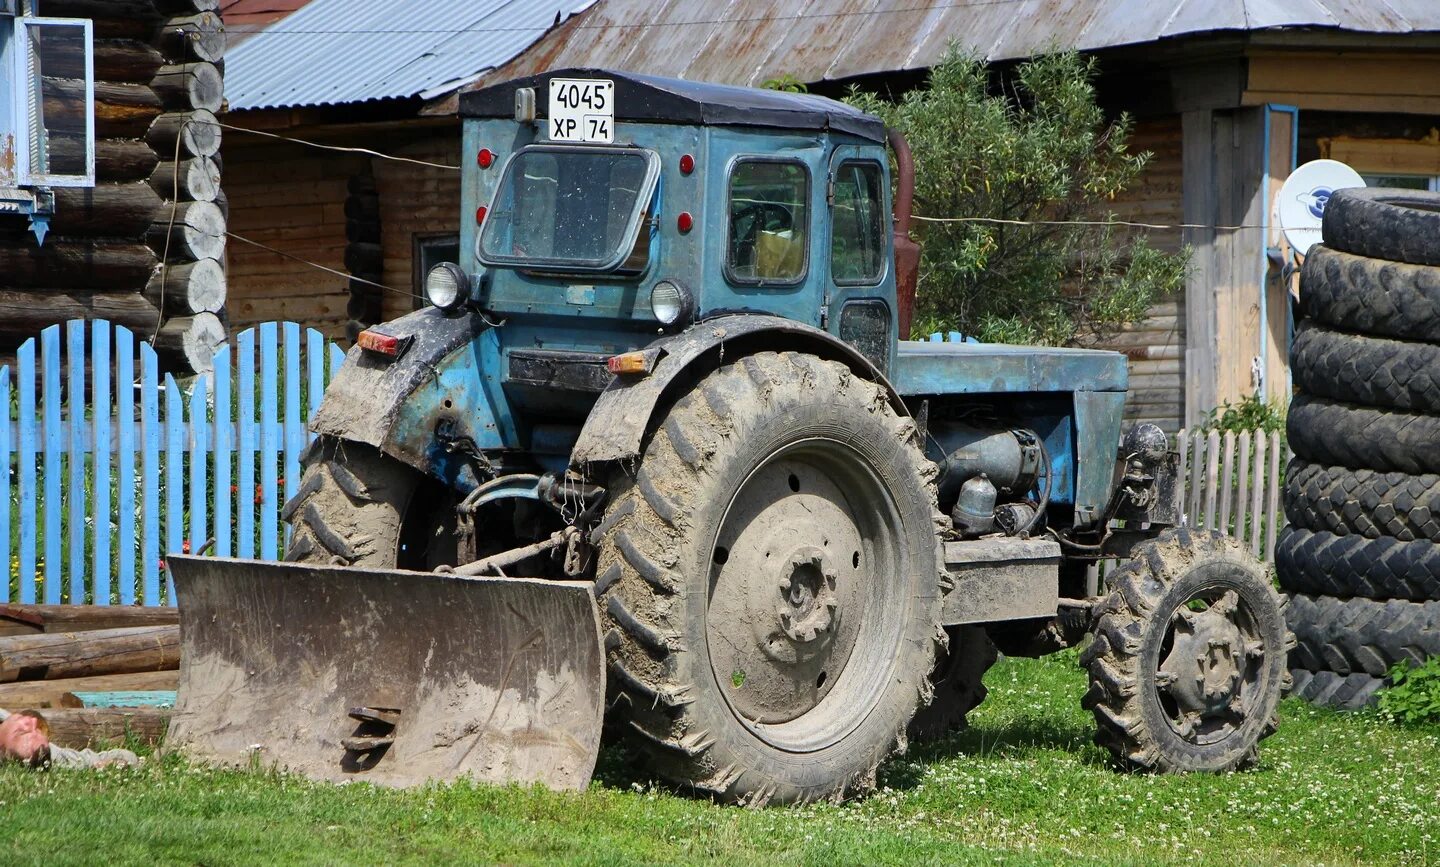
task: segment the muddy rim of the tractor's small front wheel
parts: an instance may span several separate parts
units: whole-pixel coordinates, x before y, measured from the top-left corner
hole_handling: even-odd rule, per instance
[[[1250,603],[1225,582],[1176,605],[1155,667],[1155,693],[1171,730],[1195,746],[1234,736],[1263,700],[1267,650]]]

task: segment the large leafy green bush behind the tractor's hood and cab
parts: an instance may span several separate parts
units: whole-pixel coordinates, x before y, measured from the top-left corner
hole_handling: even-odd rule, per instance
[[[1115,223],[1110,203],[1149,154],[1130,153],[1130,120],[1106,117],[1094,75],[1074,52],[1001,75],[952,46],[899,102],[850,94],[910,141],[916,213],[960,217],[914,226],[914,334],[1073,344],[1143,318],[1184,285],[1187,252]]]

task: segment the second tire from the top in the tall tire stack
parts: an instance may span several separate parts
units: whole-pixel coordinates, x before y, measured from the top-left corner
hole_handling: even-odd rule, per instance
[[[1440,269],[1316,245],[1300,268],[1308,315],[1348,331],[1440,343]]]

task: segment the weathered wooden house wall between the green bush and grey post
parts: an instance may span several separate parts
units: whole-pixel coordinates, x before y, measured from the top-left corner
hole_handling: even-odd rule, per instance
[[[1179,115],[1138,122],[1130,144],[1135,151],[1149,151],[1151,163],[1140,180],[1115,200],[1115,213],[1123,220],[1140,223],[1181,223]],[[1151,229],[1148,235],[1159,249],[1175,252],[1181,248],[1178,230]],[[1130,359],[1126,421],[1148,421],[1168,432],[1179,431],[1185,418],[1184,298],[1162,300],[1145,320],[1099,346],[1122,351]]]

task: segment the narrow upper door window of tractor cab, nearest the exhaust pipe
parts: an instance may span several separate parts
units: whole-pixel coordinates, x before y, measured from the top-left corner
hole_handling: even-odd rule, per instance
[[[841,163],[829,235],[835,285],[873,287],[886,272],[886,213],[878,163]]]

